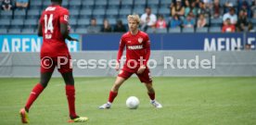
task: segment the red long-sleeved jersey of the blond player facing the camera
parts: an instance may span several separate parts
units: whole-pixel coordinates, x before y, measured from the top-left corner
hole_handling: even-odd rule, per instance
[[[141,65],[147,66],[147,60],[150,56],[150,41],[146,32],[138,31],[137,34],[133,35],[128,31],[122,35],[117,57],[118,62],[120,62],[125,46],[126,61],[123,70],[136,72]],[[142,59],[144,60],[143,64],[140,64]]]

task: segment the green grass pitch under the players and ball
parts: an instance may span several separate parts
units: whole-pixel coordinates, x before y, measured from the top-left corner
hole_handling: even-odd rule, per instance
[[[126,81],[111,109],[107,102],[115,78],[75,78],[76,109],[87,125],[253,125],[256,124],[256,78],[154,78],[157,100],[149,104],[146,87],[138,79]],[[19,125],[25,105],[38,79],[0,79],[0,125]],[[61,78],[52,79],[30,110],[32,125],[65,125],[68,103]],[[125,100],[137,96],[138,109]]]

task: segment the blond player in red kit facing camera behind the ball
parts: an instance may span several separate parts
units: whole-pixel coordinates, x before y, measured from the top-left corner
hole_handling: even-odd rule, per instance
[[[127,19],[129,23],[129,31],[122,35],[117,56],[118,63],[116,65],[116,69],[120,69],[120,60],[125,46],[126,61],[123,69],[120,71],[110,90],[108,103],[99,106],[99,109],[106,109],[111,107],[112,102],[117,96],[118,90],[122,83],[129,79],[134,73],[137,75],[141,82],[145,83],[147,87],[147,94],[150,98],[150,103],[157,108],[161,108],[162,106],[160,103],[155,100],[155,91],[152,86],[150,71],[147,68],[147,60],[150,56],[149,38],[146,32],[138,30],[140,23],[138,15],[129,15]]]

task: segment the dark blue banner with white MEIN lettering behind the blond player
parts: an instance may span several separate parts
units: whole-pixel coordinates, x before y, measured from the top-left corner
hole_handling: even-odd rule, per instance
[[[204,50],[233,51],[242,49],[247,35],[244,33],[161,33],[148,34],[151,50]],[[249,33],[255,44],[255,33]],[[122,34],[85,34],[83,51],[118,50]]]

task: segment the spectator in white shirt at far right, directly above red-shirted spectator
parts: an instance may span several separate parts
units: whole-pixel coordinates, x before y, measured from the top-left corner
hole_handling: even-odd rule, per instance
[[[237,24],[237,14],[235,12],[236,12],[235,8],[231,7],[229,9],[229,12],[224,14],[224,18],[223,18],[224,24],[227,24],[227,22],[225,21],[227,19],[231,20],[231,24],[234,24],[234,25]]]

